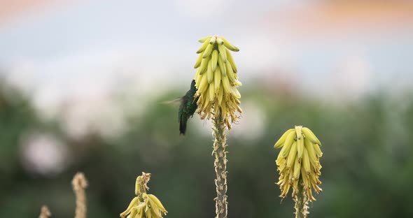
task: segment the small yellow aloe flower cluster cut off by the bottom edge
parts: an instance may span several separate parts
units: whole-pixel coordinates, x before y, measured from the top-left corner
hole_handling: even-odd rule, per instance
[[[162,218],[167,214],[162,203],[153,194],[146,194],[149,189],[146,183],[149,181],[151,173],[144,173],[137,177],[135,184],[135,194],[127,209],[120,214],[122,218]]]

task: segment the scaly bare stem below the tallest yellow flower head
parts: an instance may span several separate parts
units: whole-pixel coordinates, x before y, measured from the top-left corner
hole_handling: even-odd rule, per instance
[[[225,123],[221,116],[214,117],[212,124],[213,136],[214,136],[214,167],[216,173],[216,218],[228,217],[228,202],[227,193],[227,152],[225,148]]]

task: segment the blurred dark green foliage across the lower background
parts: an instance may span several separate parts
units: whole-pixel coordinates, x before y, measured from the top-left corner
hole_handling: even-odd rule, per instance
[[[381,93],[340,102],[243,88],[241,107],[248,102],[262,110],[259,122],[265,126],[253,140],[229,133],[230,217],[293,217],[293,201],[280,203],[274,184],[279,151],[272,146],[295,124],[311,128],[323,143],[323,193],[316,195],[311,217],[413,216],[412,95]],[[150,101],[143,115],[125,110],[127,130],[120,136],[92,132],[73,139],[56,120],[42,121],[29,98],[3,85],[0,217],[37,217],[43,204],[53,217],[73,217],[70,181],[77,171],[89,180],[89,217],[118,217],[134,196],[141,171],[152,173],[149,193],[164,203],[167,217],[214,217],[212,137],[191,127],[187,136],[179,136],[177,108],[160,102],[180,92],[166,93]],[[33,129],[69,145],[74,154],[69,168],[48,176],[25,169],[21,138]]]

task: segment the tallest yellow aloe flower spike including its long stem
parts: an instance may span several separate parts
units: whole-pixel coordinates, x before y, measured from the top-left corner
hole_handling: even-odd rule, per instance
[[[225,218],[228,217],[225,130],[231,129],[231,124],[237,122],[242,112],[239,107],[241,94],[237,89],[241,82],[230,51],[238,52],[239,49],[222,36],[207,36],[201,38],[200,43],[203,44],[197,50],[199,56],[195,61],[195,99],[201,119],[212,119],[216,218]]]

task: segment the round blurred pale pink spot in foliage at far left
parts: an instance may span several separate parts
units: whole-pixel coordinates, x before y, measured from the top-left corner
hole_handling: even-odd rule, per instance
[[[68,151],[56,138],[31,134],[23,139],[22,165],[33,173],[55,175],[67,166]]]

